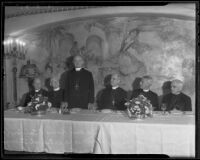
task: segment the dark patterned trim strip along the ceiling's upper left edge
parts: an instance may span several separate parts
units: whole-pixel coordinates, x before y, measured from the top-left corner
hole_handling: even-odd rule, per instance
[[[104,6],[35,7],[32,9],[30,9],[29,7],[23,7],[24,9],[22,9],[22,11],[18,11],[17,13],[5,15],[5,19],[20,17],[20,16],[34,15],[34,14],[64,12],[64,11],[73,11],[73,10],[100,8],[100,7],[104,7]]]

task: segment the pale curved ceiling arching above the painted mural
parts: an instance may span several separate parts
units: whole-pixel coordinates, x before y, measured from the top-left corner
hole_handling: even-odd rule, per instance
[[[102,16],[138,15],[165,16],[195,20],[195,4],[168,4],[166,6],[35,6],[6,7],[5,37],[19,36],[41,27],[69,23],[77,19]]]

